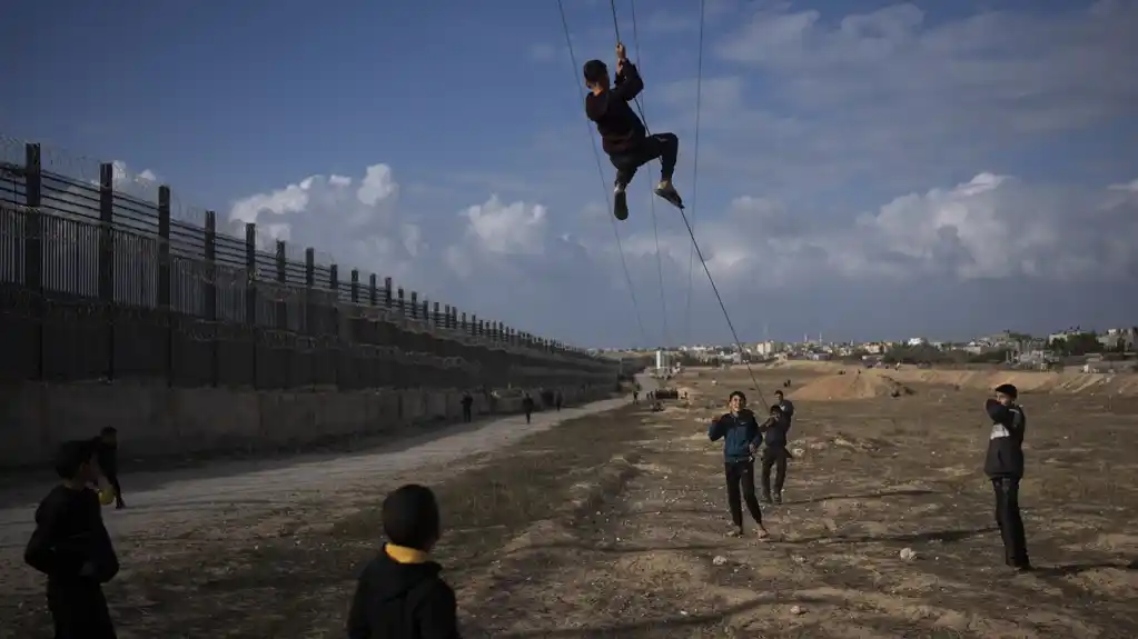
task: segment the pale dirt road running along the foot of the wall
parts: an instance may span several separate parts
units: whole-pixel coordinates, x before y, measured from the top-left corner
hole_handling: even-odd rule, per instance
[[[642,384],[651,388],[652,381],[643,379]],[[134,613],[156,625],[146,623],[135,629],[131,623],[123,623],[121,637],[207,636],[189,629],[178,630],[181,628],[175,623],[179,615],[172,615],[170,624],[159,623],[149,609],[154,607],[155,591],[147,590],[147,582],[168,582],[174,592],[184,588],[174,597],[188,596],[193,590],[191,586],[179,583],[180,578],[197,580],[201,575],[179,575],[179,566],[192,570],[190,566],[200,564],[206,556],[239,556],[270,547],[277,549],[284,538],[299,547],[305,543],[304,539],[328,533],[333,523],[343,524],[345,517],[358,508],[374,507],[384,492],[398,483],[443,483],[477,468],[488,455],[526,437],[567,421],[620,408],[629,400],[618,398],[537,413],[531,424],[526,424],[525,417],[519,415],[455,426],[355,455],[220,462],[175,471],[126,474],[122,481],[129,508],[105,511],[107,528],[124,565],[108,588],[108,597],[112,601],[116,601],[116,596],[118,601],[127,599],[127,607],[133,607]],[[50,484],[22,487],[0,495],[0,503],[16,504],[0,511],[0,638],[27,639],[35,637],[31,629],[47,628],[41,611],[42,578],[23,564],[22,553],[31,534],[35,503],[49,488]],[[379,534],[378,524],[366,531],[370,540],[378,539]],[[357,553],[357,558],[365,557],[366,553]],[[239,567],[229,564],[217,570],[230,573]],[[332,581],[351,580],[352,565],[340,570],[343,574],[335,575]],[[339,616],[338,604],[332,612]],[[125,616],[130,619],[131,611]],[[222,631],[208,636],[225,634]],[[300,634],[272,634],[286,636]]]

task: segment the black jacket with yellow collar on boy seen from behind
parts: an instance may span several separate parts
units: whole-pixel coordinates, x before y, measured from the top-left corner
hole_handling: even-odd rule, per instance
[[[435,562],[401,564],[387,553],[360,575],[348,639],[460,639],[454,590]]]

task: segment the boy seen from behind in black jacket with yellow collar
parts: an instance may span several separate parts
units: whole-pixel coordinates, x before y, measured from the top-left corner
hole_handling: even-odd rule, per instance
[[[364,567],[348,611],[348,639],[460,639],[454,590],[430,561],[442,537],[438,501],[407,484],[384,500],[384,551]]]

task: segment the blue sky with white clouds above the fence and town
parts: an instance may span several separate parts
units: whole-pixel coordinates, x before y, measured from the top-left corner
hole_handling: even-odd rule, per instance
[[[609,2],[564,5],[577,64],[611,60]],[[740,339],[1138,324],[1138,0],[706,0],[702,74],[699,0],[616,6]],[[613,221],[554,1],[11,0],[0,25],[0,132],[187,218],[569,343],[732,340],[658,165]]]

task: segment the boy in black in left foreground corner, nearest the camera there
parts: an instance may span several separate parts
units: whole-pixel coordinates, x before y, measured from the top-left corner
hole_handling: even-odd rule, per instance
[[[48,609],[56,639],[115,639],[102,584],[118,574],[118,557],[102,507],[96,440],[69,441],[56,454],[63,480],[35,509],[35,531],[24,550],[27,565],[48,575]]]

